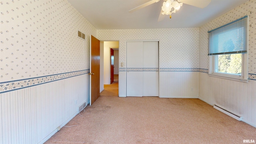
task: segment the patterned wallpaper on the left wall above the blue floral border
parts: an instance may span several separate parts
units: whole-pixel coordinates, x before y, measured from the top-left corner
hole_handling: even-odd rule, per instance
[[[97,30],[66,0],[1,0],[0,13],[0,82],[89,69]]]

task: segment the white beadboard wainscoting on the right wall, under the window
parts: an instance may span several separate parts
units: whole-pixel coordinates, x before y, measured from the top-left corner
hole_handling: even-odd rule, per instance
[[[208,76],[199,72],[199,99],[217,105],[256,127],[256,80],[248,83]]]

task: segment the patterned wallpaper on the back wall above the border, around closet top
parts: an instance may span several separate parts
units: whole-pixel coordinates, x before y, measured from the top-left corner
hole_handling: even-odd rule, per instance
[[[126,68],[128,40],[159,40],[159,68],[199,67],[199,28],[98,30],[97,36],[99,40],[119,40],[120,69]]]

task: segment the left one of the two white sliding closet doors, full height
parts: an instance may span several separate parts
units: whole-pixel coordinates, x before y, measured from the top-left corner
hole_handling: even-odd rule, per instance
[[[127,42],[127,96],[143,96],[143,42]]]

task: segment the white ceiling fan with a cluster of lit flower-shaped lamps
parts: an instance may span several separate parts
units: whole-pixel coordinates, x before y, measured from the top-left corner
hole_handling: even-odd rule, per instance
[[[136,8],[133,8],[129,10],[128,12],[132,13],[136,10],[139,10],[141,8],[144,8],[146,6],[149,6],[150,4],[154,4],[155,2],[159,2],[160,0],[150,0],[149,2],[146,2],[140,6],[137,6]],[[177,12],[180,10],[180,7],[183,4],[188,4],[191,6],[196,6],[198,8],[205,8],[210,4],[211,0],[164,0],[160,15],[158,17],[158,22],[164,19],[164,15],[170,15],[170,18],[172,18],[172,13]]]

